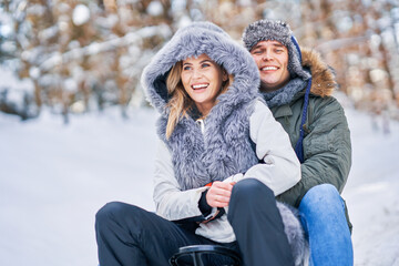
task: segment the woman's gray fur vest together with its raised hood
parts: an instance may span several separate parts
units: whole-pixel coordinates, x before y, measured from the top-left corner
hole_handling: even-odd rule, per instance
[[[233,74],[234,81],[207,114],[204,132],[196,117],[183,116],[166,137],[168,71],[176,62],[203,53]],[[171,151],[182,190],[223,181],[256,164],[248,129],[253,103],[260,98],[259,82],[250,53],[211,22],[194,22],[180,29],[144,69],[142,84],[147,100],[161,113],[157,134]]]

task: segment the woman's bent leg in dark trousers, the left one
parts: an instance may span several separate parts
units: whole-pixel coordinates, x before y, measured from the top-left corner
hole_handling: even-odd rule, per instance
[[[95,216],[101,266],[167,266],[185,245],[203,244],[203,237],[154,213],[113,202]]]

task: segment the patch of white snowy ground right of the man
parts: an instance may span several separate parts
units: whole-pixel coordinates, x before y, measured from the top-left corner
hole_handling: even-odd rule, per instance
[[[383,133],[369,116],[347,110],[352,167],[344,191],[354,224],[356,265],[399,266],[399,125]]]

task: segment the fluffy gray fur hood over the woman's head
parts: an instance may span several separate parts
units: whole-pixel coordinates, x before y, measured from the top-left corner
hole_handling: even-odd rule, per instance
[[[141,78],[147,101],[163,116],[168,114],[166,109],[168,71],[176,62],[203,53],[234,75],[233,84],[217,98],[218,105],[234,109],[258,95],[259,73],[249,52],[219,27],[211,22],[194,22],[173,35],[154,55]]]

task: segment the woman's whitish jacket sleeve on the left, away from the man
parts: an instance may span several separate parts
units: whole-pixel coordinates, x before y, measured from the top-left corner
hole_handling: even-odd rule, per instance
[[[193,218],[204,221],[200,211],[198,201],[207,187],[181,191],[174,176],[171,153],[167,146],[160,141],[155,157],[154,192],[156,214],[170,219],[181,221]]]

